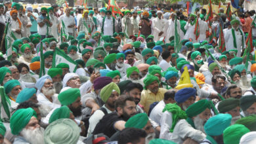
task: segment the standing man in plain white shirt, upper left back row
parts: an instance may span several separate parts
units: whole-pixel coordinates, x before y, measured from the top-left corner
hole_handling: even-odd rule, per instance
[[[68,29],[68,35],[71,35],[74,37],[74,27],[75,27],[75,18],[74,16],[70,15],[71,9],[67,8],[65,10],[65,14],[60,16],[59,20],[65,24],[66,29]],[[64,27],[64,26],[62,26]]]

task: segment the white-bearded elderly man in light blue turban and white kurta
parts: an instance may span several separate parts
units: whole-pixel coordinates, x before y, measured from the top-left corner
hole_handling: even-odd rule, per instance
[[[57,98],[58,95],[55,94],[53,79],[51,79],[49,75],[45,75],[38,79],[35,83],[35,87],[37,88],[37,99],[39,104],[47,105],[50,109],[60,107],[60,102]]]

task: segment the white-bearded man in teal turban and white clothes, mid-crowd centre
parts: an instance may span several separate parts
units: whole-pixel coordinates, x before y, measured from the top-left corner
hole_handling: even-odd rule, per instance
[[[131,65],[124,63],[125,60],[125,54],[123,53],[117,53],[116,54],[116,69],[117,71],[120,72],[121,77],[125,77],[126,73],[126,69],[128,69],[129,67],[131,67]]]

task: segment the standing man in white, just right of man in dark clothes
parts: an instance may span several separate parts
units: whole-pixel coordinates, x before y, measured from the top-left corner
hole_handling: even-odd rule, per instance
[[[163,14],[160,10],[158,10],[158,16],[152,20],[152,27],[154,35],[154,41],[159,41],[161,37],[164,37],[164,27],[165,27],[165,20],[161,18]]]

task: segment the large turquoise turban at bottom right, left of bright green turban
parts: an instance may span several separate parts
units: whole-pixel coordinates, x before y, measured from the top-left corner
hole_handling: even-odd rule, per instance
[[[223,113],[209,118],[204,124],[205,133],[210,136],[222,135],[223,131],[230,126],[231,119],[231,115]]]

